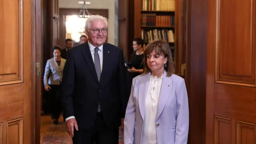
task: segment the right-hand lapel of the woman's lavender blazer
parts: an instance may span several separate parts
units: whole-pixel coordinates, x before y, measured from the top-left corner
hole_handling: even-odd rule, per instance
[[[159,100],[158,100],[158,110],[156,115],[156,120],[159,118],[160,114],[164,110],[164,106],[170,96],[172,90],[172,79],[166,76],[166,71],[164,71],[164,76],[162,80]]]

